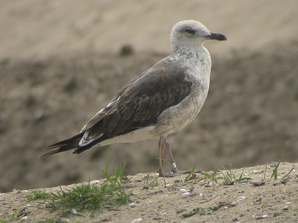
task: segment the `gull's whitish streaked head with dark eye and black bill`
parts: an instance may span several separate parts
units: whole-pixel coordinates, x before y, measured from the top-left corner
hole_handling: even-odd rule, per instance
[[[170,42],[174,53],[188,48],[199,48],[207,40],[226,40],[220,33],[211,33],[200,22],[186,20],[175,24],[171,30]]]

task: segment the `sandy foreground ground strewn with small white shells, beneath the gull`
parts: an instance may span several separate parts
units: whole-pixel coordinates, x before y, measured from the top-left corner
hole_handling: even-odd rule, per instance
[[[158,179],[158,185],[153,183],[149,188],[144,187],[146,183],[146,173],[139,173],[134,176],[127,176],[125,191],[131,194],[134,201],[132,205],[122,205],[118,211],[108,211],[103,209],[99,214],[96,212],[90,217],[91,212],[78,212],[77,215],[66,215],[51,212],[46,208],[42,200],[28,201],[26,195],[31,195],[31,190],[16,190],[14,192],[0,194],[0,219],[9,222],[13,219],[13,214],[19,210],[16,219],[26,218],[24,222],[40,222],[47,219],[54,221],[64,221],[69,223],[100,223],[100,222],[123,222],[130,223],[134,220],[142,220],[142,223],[162,222],[162,223],[227,223],[227,222],[297,222],[297,165],[282,163],[278,168],[278,179],[270,179],[272,170],[276,163],[256,167],[245,167],[235,169],[234,174],[239,178],[241,172],[248,177],[247,180],[236,182],[232,185],[225,184],[223,180],[217,183],[204,184],[182,183],[179,177],[167,178],[167,187],[164,187],[163,179]],[[286,174],[292,169],[287,176]],[[264,171],[266,169],[266,173]],[[149,173],[149,184],[155,180],[153,173]],[[197,173],[197,178],[202,174]],[[265,180],[264,180],[265,175]],[[182,175],[185,179],[186,175]],[[285,178],[284,178],[285,177]],[[99,180],[100,186],[104,179]],[[76,185],[62,186],[63,190],[74,188]],[[77,185],[79,186],[79,184]],[[184,189],[188,191],[180,191]],[[61,191],[59,187],[39,189],[41,192],[57,193]],[[217,207],[207,215],[186,214],[194,209]],[[18,216],[22,216],[18,218]]]

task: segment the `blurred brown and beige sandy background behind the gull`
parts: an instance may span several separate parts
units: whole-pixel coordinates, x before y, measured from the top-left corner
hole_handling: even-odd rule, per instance
[[[168,137],[177,167],[213,170],[298,162],[297,0],[0,1],[0,192],[158,169],[158,140],[39,159],[80,131],[134,76],[172,53],[171,27],[202,22],[228,41],[205,44],[209,96]],[[109,151],[109,157],[108,157]],[[94,167],[89,164],[97,165]],[[169,167],[165,167],[167,171]]]

